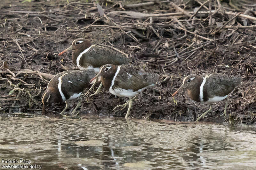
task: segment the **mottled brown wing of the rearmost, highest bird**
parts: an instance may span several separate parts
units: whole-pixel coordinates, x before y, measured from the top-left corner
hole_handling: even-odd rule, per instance
[[[92,46],[83,56],[82,63],[90,63],[93,67],[101,67],[105,64],[122,65],[131,62],[131,59],[115,50],[96,45]]]

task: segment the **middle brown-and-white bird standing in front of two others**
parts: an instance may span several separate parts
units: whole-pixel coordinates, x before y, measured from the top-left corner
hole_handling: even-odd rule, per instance
[[[128,104],[128,110],[125,115],[127,119],[130,109],[132,107],[132,100],[134,100],[139,92],[142,92],[149,86],[158,84],[159,75],[156,73],[147,72],[144,70],[137,70],[129,65],[106,64],[100,67],[100,72],[90,80],[101,77],[103,87],[105,87],[111,94],[128,97],[129,101],[123,105],[116,106],[123,107],[123,110]],[[135,97],[134,97],[135,96]],[[133,97],[133,98],[132,98]]]

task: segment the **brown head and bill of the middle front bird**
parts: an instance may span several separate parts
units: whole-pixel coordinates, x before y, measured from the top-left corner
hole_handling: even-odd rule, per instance
[[[98,78],[98,77],[102,77],[103,79],[113,79],[113,77],[116,74],[116,66],[114,64],[106,64],[100,67],[100,72],[91,79],[90,83]],[[103,81],[103,80],[101,80]]]

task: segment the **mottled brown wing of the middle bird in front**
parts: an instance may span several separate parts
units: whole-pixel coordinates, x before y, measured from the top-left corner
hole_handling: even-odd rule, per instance
[[[114,87],[125,90],[137,91],[158,82],[159,75],[143,70],[136,70],[127,65],[120,66],[121,69],[116,76]]]

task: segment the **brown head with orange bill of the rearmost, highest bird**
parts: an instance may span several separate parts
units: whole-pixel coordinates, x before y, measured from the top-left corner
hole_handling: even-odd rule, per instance
[[[59,56],[71,49],[75,50],[72,55],[77,54],[77,56],[78,56],[81,52],[83,52],[85,49],[89,48],[91,45],[92,44],[88,40],[86,40],[84,38],[78,38],[72,42],[70,47],[68,47],[64,51],[60,52]]]

